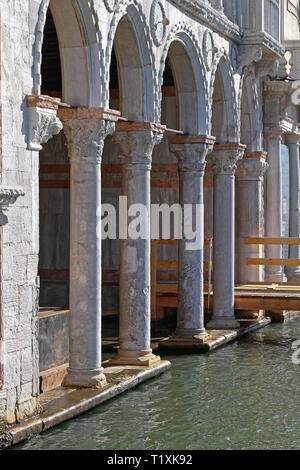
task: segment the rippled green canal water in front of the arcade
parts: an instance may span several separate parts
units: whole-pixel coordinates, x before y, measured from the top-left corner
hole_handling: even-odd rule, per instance
[[[169,356],[164,375],[14,449],[300,449],[298,340],[295,319],[204,356]]]

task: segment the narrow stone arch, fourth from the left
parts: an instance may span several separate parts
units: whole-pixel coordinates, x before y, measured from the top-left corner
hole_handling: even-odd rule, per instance
[[[219,103],[215,110],[216,101]],[[220,106],[220,103],[223,103]],[[210,120],[218,143],[239,142],[238,98],[234,71],[227,54],[222,51],[214,61],[210,84]],[[221,117],[223,122],[221,122]],[[216,125],[216,119],[219,120]]]

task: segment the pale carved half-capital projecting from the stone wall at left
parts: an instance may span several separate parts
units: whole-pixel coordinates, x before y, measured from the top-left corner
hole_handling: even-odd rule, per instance
[[[29,150],[42,150],[42,145],[62,130],[61,121],[56,116],[56,110],[30,107],[29,117]]]

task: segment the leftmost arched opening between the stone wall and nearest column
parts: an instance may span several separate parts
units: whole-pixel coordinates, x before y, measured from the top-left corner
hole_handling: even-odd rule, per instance
[[[93,28],[87,2],[50,1],[42,47],[42,94],[72,106],[99,105],[100,66]],[[45,391],[45,371],[54,371],[54,388],[69,360],[70,164],[63,131],[40,151],[39,185],[39,348]]]

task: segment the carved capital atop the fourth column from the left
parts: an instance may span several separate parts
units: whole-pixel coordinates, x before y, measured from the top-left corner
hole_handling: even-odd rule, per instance
[[[244,156],[246,146],[242,144],[217,144],[209,156],[215,175],[234,176],[237,162]]]

